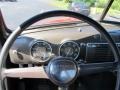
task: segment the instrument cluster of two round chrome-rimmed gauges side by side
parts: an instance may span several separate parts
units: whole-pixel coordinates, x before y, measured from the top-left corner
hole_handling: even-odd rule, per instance
[[[74,60],[79,57],[80,46],[75,41],[65,41],[56,46],[57,53],[53,51],[53,44],[43,40],[34,41],[30,48],[31,57],[38,62],[46,62],[53,55],[68,57]]]

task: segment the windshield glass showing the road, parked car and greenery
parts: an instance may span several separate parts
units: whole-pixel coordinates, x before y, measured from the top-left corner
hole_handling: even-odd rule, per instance
[[[27,19],[51,10],[71,10],[99,20],[108,1],[109,0],[0,0],[0,7],[7,27],[14,30]],[[120,0],[114,1],[114,4],[105,17],[106,20],[120,20],[119,3]],[[71,19],[63,18],[62,21],[69,22],[69,20]]]

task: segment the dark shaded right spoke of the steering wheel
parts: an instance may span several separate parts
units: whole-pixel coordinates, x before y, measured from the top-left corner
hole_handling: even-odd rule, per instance
[[[118,62],[79,64],[79,75],[88,75],[104,71],[112,71],[117,68]]]

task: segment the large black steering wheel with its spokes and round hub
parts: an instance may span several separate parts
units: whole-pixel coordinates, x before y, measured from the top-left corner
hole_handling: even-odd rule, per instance
[[[76,61],[70,58],[64,57],[54,57],[47,66],[45,67],[27,67],[27,68],[11,68],[7,69],[5,63],[7,60],[7,55],[16,38],[30,25],[37,21],[56,17],[56,16],[68,16],[83,20],[89,25],[93,26],[97,31],[99,31],[107,40],[110,45],[112,52],[114,54],[114,62],[104,62],[104,63],[81,63],[77,64]],[[49,78],[56,85],[67,89],[67,87],[79,76],[93,74],[103,71],[117,70],[117,82],[116,90],[120,90],[120,54],[117,46],[112,40],[109,33],[96,21],[84,16],[80,13],[57,10],[49,11],[39,15],[36,15],[26,22],[22,23],[6,40],[2,51],[0,53],[0,75],[1,75],[1,85],[0,90],[5,90],[3,87],[3,81],[6,77],[11,78]],[[66,88],[65,88],[66,87]]]

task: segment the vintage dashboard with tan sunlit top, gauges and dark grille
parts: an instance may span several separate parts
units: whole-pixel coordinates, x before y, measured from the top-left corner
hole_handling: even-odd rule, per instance
[[[80,24],[81,25],[81,24]],[[68,57],[78,63],[114,61],[111,48],[91,26],[79,24],[24,31],[9,54],[16,64],[45,64],[53,57]],[[120,48],[120,31],[109,31]]]

